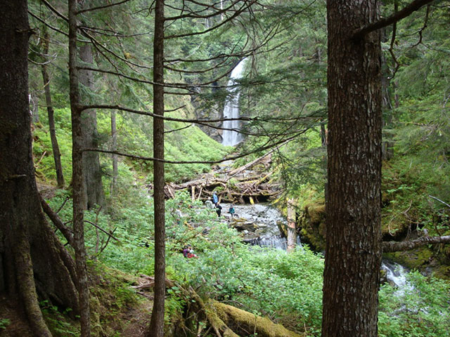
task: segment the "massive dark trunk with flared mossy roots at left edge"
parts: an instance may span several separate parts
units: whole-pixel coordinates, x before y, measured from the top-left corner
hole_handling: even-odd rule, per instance
[[[35,336],[51,336],[37,300],[78,313],[73,261],[41,211],[28,105],[27,1],[2,6],[0,29],[0,293],[23,308]]]

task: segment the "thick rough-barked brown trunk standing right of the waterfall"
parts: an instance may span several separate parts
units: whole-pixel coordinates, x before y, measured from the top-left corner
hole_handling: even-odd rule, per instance
[[[381,262],[378,1],[328,0],[328,198],[323,337],[377,336]]]

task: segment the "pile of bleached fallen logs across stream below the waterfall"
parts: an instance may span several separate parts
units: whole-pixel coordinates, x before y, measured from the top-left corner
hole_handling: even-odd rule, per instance
[[[279,184],[271,180],[274,172],[268,171],[270,164],[269,152],[238,169],[224,166],[186,183],[168,184],[165,194],[173,198],[176,191],[188,190],[193,200],[205,201],[211,199],[212,192],[216,190],[220,202],[244,204],[249,201],[267,201],[280,193]],[[255,166],[258,169],[251,170]]]

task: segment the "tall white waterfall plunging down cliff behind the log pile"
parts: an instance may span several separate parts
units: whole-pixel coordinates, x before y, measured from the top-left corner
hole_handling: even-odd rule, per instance
[[[236,84],[236,79],[240,79],[244,70],[245,58],[241,60],[236,67],[234,67],[231,72],[231,77],[228,82],[229,100],[226,101],[224,107],[224,118],[239,118],[239,95],[240,92],[237,86],[232,87]],[[224,121],[222,125],[223,128],[228,129],[239,129],[240,121]],[[242,140],[240,133],[233,130],[224,130],[222,133],[222,145],[234,146]]]

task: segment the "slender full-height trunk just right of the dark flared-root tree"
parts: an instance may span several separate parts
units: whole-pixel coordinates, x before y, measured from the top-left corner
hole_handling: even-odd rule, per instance
[[[81,336],[91,336],[89,314],[89,288],[84,246],[84,176],[82,110],[79,97],[79,73],[77,70],[77,0],[69,0],[69,84],[70,110],[72,113],[72,199],[75,263],[80,306]]]

